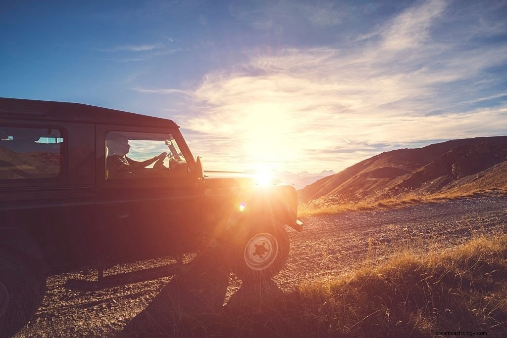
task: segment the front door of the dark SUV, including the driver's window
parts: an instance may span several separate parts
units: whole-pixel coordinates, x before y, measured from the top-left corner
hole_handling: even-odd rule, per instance
[[[104,255],[126,262],[196,244],[202,189],[171,131],[97,125],[96,133],[96,213]]]

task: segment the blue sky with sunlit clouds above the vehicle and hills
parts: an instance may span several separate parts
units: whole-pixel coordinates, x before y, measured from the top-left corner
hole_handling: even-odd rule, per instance
[[[13,1],[0,96],[173,119],[207,170],[507,135],[507,1]]]

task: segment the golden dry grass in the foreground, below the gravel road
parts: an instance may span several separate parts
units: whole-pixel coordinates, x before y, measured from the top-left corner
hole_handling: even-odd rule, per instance
[[[289,292],[273,282],[251,286],[220,313],[173,308],[165,323],[155,321],[152,328],[168,336],[507,336],[507,235],[477,237],[452,250],[416,251],[407,248],[380,266]]]

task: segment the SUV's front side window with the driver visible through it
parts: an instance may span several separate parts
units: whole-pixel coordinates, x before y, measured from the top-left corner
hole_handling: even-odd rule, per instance
[[[105,178],[187,176],[187,161],[171,134],[108,132]]]

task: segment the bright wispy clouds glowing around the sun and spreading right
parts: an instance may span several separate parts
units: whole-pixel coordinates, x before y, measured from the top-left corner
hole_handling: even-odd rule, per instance
[[[507,34],[505,20],[491,20],[492,6],[451,5],[415,3],[347,44],[247,51],[206,74],[188,101],[193,114],[177,118],[201,137],[200,154],[231,170],[338,171],[385,150],[504,135],[507,44],[483,41]],[[338,24],[333,13],[313,24]],[[269,23],[259,11],[234,15]]]

